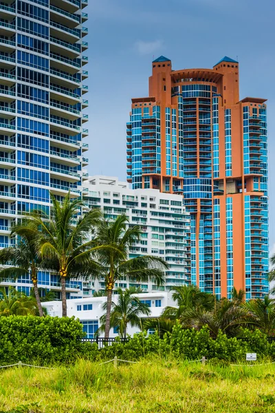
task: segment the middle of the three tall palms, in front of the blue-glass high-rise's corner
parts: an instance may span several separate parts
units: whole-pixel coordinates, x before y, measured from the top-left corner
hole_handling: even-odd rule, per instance
[[[104,246],[95,246],[91,232],[100,217],[94,209],[78,218],[81,200],[71,200],[68,193],[63,202],[51,194],[50,219],[41,211],[30,213],[30,220],[41,233],[41,256],[47,260],[49,269],[55,270],[61,278],[62,315],[67,317],[66,281],[70,278],[97,275],[100,266],[92,260],[91,253]]]

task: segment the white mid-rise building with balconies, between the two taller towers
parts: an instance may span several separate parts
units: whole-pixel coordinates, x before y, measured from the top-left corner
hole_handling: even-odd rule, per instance
[[[129,225],[140,225],[142,237],[131,248],[130,258],[148,254],[162,257],[169,265],[164,286],[120,279],[115,287],[140,286],[144,292],[153,292],[188,284],[190,267],[186,238],[190,220],[181,195],[160,193],[157,189],[129,189],[127,182],[111,176],[91,176],[85,185],[83,200],[87,209],[101,208],[110,220],[124,213]],[[85,282],[83,290],[73,297],[89,297],[94,290],[104,288],[103,278]]]

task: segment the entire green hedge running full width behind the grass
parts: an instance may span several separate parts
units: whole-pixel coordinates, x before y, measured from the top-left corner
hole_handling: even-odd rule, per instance
[[[83,343],[85,337],[78,319],[58,317],[0,317],[0,366],[36,362],[43,364],[71,363],[79,357],[93,361],[110,360],[114,356],[124,360],[158,356],[164,359],[196,360],[201,357],[228,362],[245,359],[246,352],[256,352],[258,359],[275,359],[275,343],[268,343],[260,330],[243,330],[244,340],[228,338],[219,332],[210,337],[207,326],[197,331],[182,329],[176,324],[172,333],[162,339],[157,334],[148,337],[143,332],[134,335],[128,343],[115,341],[98,349],[96,343]]]

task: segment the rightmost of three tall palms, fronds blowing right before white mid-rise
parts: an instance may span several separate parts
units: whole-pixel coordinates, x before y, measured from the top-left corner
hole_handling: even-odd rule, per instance
[[[98,224],[98,245],[112,245],[115,248],[101,249],[97,251],[97,260],[102,266],[101,276],[104,276],[107,289],[107,306],[105,335],[109,338],[111,322],[111,296],[115,282],[118,279],[135,279],[137,282],[153,280],[155,284],[164,283],[164,269],[166,262],[159,257],[144,255],[129,259],[131,246],[140,240],[140,227],[129,226],[126,215],[120,215],[115,221],[100,220]]]

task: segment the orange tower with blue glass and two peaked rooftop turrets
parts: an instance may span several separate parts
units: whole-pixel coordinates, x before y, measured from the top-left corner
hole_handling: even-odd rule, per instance
[[[134,189],[181,193],[190,212],[189,282],[229,297],[267,293],[265,99],[239,99],[239,63],[172,70],[152,63],[149,93],[133,98],[127,176]]]

